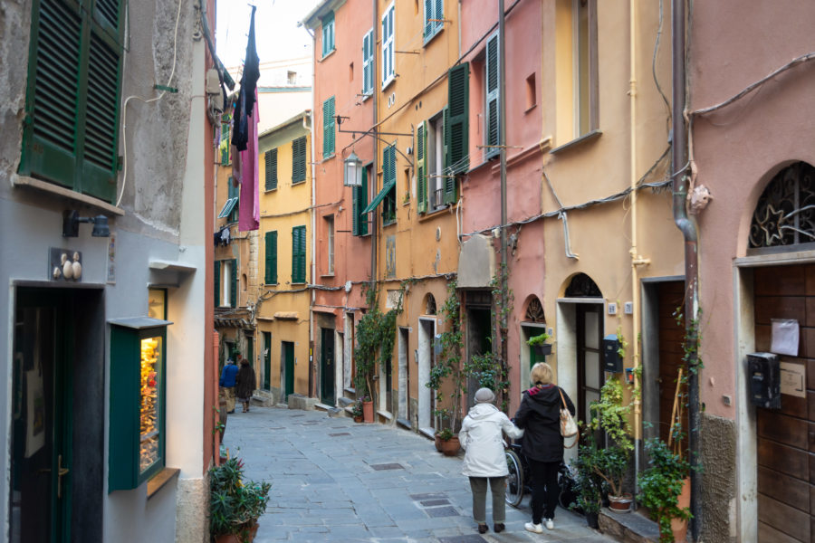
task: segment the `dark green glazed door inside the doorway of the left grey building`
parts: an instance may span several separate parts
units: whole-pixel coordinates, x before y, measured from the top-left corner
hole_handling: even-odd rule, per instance
[[[71,539],[73,322],[64,297],[19,291],[14,312],[10,538]]]

